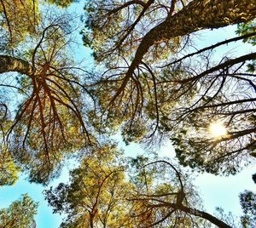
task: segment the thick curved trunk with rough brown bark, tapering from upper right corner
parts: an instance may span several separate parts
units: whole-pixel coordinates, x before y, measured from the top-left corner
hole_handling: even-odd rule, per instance
[[[154,43],[184,36],[202,29],[214,29],[253,20],[255,0],[194,0],[177,14],[170,15],[143,37],[127,75],[137,68]]]

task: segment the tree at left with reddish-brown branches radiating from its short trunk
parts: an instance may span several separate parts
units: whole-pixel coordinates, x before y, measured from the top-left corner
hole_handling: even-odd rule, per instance
[[[44,184],[59,174],[68,154],[95,144],[84,118],[90,106],[84,102],[90,94],[82,82],[87,73],[76,66],[68,49],[77,29],[73,20],[69,14],[45,10],[26,37],[26,48],[25,43],[17,46],[22,58],[0,55],[0,73],[18,73],[2,77],[0,84],[1,104],[8,107],[5,147],[19,166],[30,170],[30,180]]]

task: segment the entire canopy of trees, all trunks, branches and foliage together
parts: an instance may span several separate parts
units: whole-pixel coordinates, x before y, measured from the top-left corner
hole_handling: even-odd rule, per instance
[[[179,165],[229,175],[255,162],[255,1],[84,1],[83,29],[66,10],[75,2],[0,0],[0,185],[22,171],[48,185],[75,157],[70,181],[45,191],[61,227],[231,227]],[[197,46],[201,31],[233,25],[234,37]],[[79,32],[95,69],[74,56]],[[218,54],[236,42],[252,48]],[[149,155],[126,157],[116,134]],[[150,153],[167,140],[179,164]],[[254,195],[240,195],[243,227]],[[34,227],[37,207],[24,195],[0,228]]]

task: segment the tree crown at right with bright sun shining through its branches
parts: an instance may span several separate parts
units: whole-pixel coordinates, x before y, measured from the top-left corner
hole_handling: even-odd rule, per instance
[[[246,25],[251,25],[251,29],[241,31],[241,27]],[[241,24],[237,31],[241,37],[238,38],[253,43],[254,26],[253,22]],[[196,97],[194,104],[179,107],[177,111],[180,113],[169,119],[182,128],[177,130],[172,140],[177,157],[184,165],[200,167],[213,174],[236,174],[241,167],[253,161],[255,71],[252,67],[255,57],[242,60],[245,56],[224,63],[234,61],[234,65],[220,63],[216,66],[218,74],[210,73],[207,78],[202,78],[202,95]],[[211,68],[208,71],[212,71]],[[209,131],[211,124],[223,124],[226,134],[212,135]]]

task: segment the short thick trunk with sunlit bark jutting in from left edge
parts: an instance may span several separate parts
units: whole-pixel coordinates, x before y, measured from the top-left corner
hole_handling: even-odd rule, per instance
[[[0,55],[0,73],[16,71],[32,75],[32,66],[26,61],[8,55]]]

